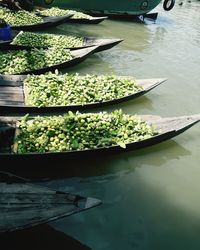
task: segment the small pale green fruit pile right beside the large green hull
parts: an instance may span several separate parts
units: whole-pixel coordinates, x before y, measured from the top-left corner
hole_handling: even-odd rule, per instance
[[[91,19],[92,18],[90,15],[86,15],[79,11],[64,10],[58,7],[52,7],[50,9],[40,10],[39,13],[44,16],[65,16],[65,15],[73,14],[72,19]]]

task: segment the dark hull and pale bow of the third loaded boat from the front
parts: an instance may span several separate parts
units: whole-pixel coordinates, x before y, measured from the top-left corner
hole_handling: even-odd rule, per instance
[[[0,49],[2,48],[0,47]],[[30,47],[26,49],[29,50]],[[70,53],[74,56],[71,60],[68,60],[64,63],[55,64],[53,66],[44,67],[41,69],[21,72],[20,74],[22,75],[23,74],[41,74],[41,73],[45,73],[45,72],[52,71],[52,70],[54,71],[56,69],[68,68],[68,67],[74,66],[84,61],[90,54],[94,53],[96,49],[98,49],[98,46],[90,46],[90,47],[83,48],[83,49],[70,50]],[[3,48],[3,50],[8,51],[8,50],[19,50],[19,49],[17,49],[16,47],[12,47],[12,46],[6,46]]]

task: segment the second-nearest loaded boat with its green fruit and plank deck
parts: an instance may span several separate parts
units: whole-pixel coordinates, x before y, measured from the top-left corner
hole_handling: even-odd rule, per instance
[[[63,84],[67,85],[67,87],[65,89],[65,95],[67,96],[68,94],[71,96],[69,98],[69,96],[67,97],[67,103],[68,104],[64,104],[65,103],[65,97],[62,99],[62,104],[52,104],[52,105],[29,105],[28,103],[28,99],[29,99],[29,94],[32,96],[32,93],[35,92],[35,88],[29,88],[25,81],[27,81],[28,79],[30,81],[34,81],[35,83],[37,82],[37,86],[40,85],[40,80],[39,79],[51,79],[50,78],[53,77],[52,79],[54,79],[54,93],[52,93],[52,95],[56,95],[55,92],[59,91],[59,86],[62,84],[62,79],[63,79]],[[58,77],[58,85],[56,87],[56,76]],[[98,78],[99,77],[99,78]],[[35,79],[35,80],[34,80]],[[65,79],[65,80],[64,80]],[[68,79],[68,80],[67,80]],[[72,80],[73,79],[73,80]],[[83,85],[83,83],[85,82],[86,84],[88,84],[89,79],[91,79],[92,81],[95,82],[95,85],[99,85],[99,88],[96,88],[96,90],[98,89],[99,91],[97,91],[97,95],[99,97],[99,99],[95,99],[95,96],[93,96],[93,89],[95,88],[95,86],[91,88],[89,88],[86,91],[86,86]],[[81,84],[77,85],[77,80],[81,81]],[[117,82],[114,86],[114,89],[116,92],[119,91],[119,88],[122,89],[122,86],[124,86],[124,88],[128,88],[128,81],[131,84],[131,81],[133,81],[133,84],[129,86],[130,92],[124,93],[122,96],[118,96],[117,93],[114,94],[114,96],[112,96],[112,98],[105,98],[105,96],[101,95],[101,93],[110,93],[112,94],[112,91],[110,90],[112,88],[112,86],[114,85],[113,80],[115,80],[115,82]],[[90,108],[98,108],[98,107],[103,107],[106,105],[111,105],[111,104],[118,104],[121,102],[126,102],[129,100],[132,100],[134,98],[140,97],[146,93],[148,93],[150,90],[154,89],[155,87],[157,87],[158,85],[160,85],[161,83],[163,83],[166,79],[137,79],[135,80],[133,77],[130,76],[117,76],[116,78],[112,78],[112,77],[108,77],[106,78],[106,76],[103,75],[99,75],[97,76],[97,79],[95,80],[95,75],[94,78],[92,79],[92,75],[91,77],[89,77],[89,75],[87,76],[78,76],[78,75],[56,75],[56,74],[48,74],[48,75],[41,75],[41,76],[27,76],[27,75],[0,75],[0,111],[1,113],[5,112],[24,112],[24,113],[31,113],[31,112],[38,112],[38,113],[43,113],[43,112],[52,112],[52,111],[68,111],[68,110],[87,110]],[[40,87],[40,93],[39,95],[42,95],[44,97],[45,92],[47,93],[47,99],[49,98],[50,95],[50,89],[51,89],[51,81],[45,81],[45,85],[44,85],[44,89],[42,87]],[[70,87],[70,85],[68,85],[68,82],[72,82],[73,84],[72,86],[76,86],[77,90],[73,90],[73,88]],[[101,84],[101,81],[107,81],[107,85],[104,86],[103,84]],[[82,88],[83,86],[83,88]],[[104,89],[105,88],[105,89]],[[34,90],[35,89],[35,90]],[[85,101],[85,103],[82,102],[82,91],[80,91],[80,89],[85,89],[85,98],[88,96],[89,100]],[[76,93],[76,94],[75,94]],[[73,100],[72,101],[72,96],[74,96],[74,94],[76,95],[77,99],[76,101]],[[60,96],[60,94],[59,94]],[[34,99],[37,99],[40,102],[40,97],[34,97]],[[60,96],[61,98],[61,96]],[[55,101],[58,99],[54,99]],[[71,102],[70,102],[71,100]],[[86,99],[85,99],[86,100]]]

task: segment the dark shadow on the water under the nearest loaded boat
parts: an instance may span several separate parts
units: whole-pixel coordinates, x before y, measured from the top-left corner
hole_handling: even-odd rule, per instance
[[[176,153],[173,153],[176,152]],[[19,175],[31,181],[49,181],[72,177],[94,177],[115,174],[118,171],[134,171],[143,164],[160,166],[171,159],[191,155],[191,152],[174,140],[149,148],[105,156],[85,158],[57,158],[51,161],[4,162],[0,170]],[[155,160],[156,159],[156,160]],[[9,176],[9,178],[12,177]],[[13,178],[15,179],[15,176]],[[19,181],[19,179],[17,180]]]

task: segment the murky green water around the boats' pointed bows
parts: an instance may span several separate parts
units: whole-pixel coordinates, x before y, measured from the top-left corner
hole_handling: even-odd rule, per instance
[[[200,1],[178,3],[170,12],[158,6],[155,23],[106,20],[57,27],[56,33],[124,39],[70,72],[168,79],[144,97],[106,110],[200,113]],[[56,165],[45,185],[103,204],[51,223],[54,229],[94,250],[200,249],[200,124],[150,148],[64,165],[62,173]]]

